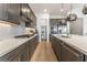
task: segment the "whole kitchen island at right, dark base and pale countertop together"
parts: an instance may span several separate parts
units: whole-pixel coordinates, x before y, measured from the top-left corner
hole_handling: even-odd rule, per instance
[[[53,34],[51,42],[58,61],[87,61],[87,36],[72,35],[70,37],[63,37],[62,35]]]

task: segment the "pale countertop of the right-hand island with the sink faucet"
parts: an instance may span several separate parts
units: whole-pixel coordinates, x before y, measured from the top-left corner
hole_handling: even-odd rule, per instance
[[[53,35],[87,55],[87,35],[72,35],[70,37],[62,37],[57,34]]]

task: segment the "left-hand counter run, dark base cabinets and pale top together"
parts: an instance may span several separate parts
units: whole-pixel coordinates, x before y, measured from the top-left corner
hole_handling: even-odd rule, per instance
[[[0,42],[0,61],[30,61],[37,45],[37,34],[31,37],[8,39]]]

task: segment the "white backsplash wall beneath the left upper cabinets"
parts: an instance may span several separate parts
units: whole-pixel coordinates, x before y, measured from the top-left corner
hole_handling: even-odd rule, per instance
[[[25,23],[21,22],[20,25],[11,25],[0,23],[0,40],[13,37],[24,33]]]

